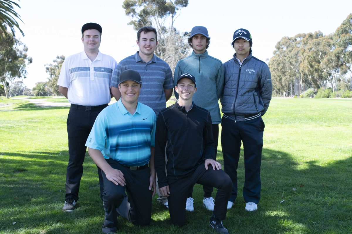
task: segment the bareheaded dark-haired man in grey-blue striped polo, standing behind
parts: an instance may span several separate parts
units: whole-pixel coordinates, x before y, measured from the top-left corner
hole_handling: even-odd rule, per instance
[[[153,27],[143,27],[137,32],[137,45],[139,51],[136,54],[122,59],[112,78],[111,92],[118,101],[121,94],[118,89],[119,76],[127,69],[133,69],[142,76],[142,89],[139,94],[139,102],[153,109],[156,115],[166,108],[166,101],[172,95],[174,82],[170,66],[158,58],[155,48],[158,45],[158,36]]]

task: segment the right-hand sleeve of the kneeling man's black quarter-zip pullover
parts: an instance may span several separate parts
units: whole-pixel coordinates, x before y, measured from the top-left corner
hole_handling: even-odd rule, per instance
[[[203,155],[205,159],[214,159],[215,160],[215,141],[213,136],[213,125],[212,118],[208,112],[207,122],[203,128],[203,145],[204,151]]]

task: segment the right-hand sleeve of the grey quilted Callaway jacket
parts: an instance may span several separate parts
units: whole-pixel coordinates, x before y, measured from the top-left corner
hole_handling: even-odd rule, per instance
[[[268,65],[266,65],[265,63],[260,77],[260,97],[262,98],[263,104],[264,104],[264,110],[262,111],[262,116],[268,110],[269,103],[271,100],[271,94],[272,94],[271,74],[270,74]]]

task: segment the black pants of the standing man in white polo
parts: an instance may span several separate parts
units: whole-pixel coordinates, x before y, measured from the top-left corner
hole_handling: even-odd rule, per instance
[[[83,174],[83,161],[86,155],[86,141],[92,130],[96,116],[107,105],[101,105],[96,111],[85,111],[70,107],[67,117],[69,161],[66,171],[66,198],[78,200],[80,182]]]

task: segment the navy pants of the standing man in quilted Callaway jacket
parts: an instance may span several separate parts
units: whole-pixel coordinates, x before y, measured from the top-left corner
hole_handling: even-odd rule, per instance
[[[262,117],[234,122],[222,117],[221,146],[224,156],[224,171],[232,180],[229,201],[237,198],[237,167],[243,142],[245,182],[243,198],[245,202],[258,203],[260,200],[260,165],[262,162],[264,122]]]

